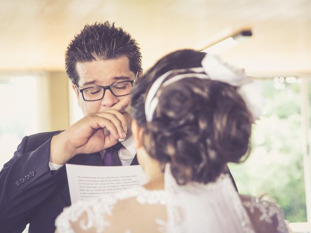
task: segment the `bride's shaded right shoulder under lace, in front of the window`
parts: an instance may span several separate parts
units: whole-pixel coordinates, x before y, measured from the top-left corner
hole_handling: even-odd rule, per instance
[[[253,196],[240,198],[257,233],[288,233],[284,213],[276,203]]]

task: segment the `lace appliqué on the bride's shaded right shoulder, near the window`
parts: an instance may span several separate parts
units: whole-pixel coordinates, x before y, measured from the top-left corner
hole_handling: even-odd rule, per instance
[[[279,233],[287,233],[287,226],[284,221],[283,211],[271,202],[260,200],[256,197],[250,197],[250,201],[243,201],[243,205],[249,209],[251,213],[254,213],[255,208],[261,212],[259,217],[260,221],[272,223],[272,217],[276,216],[277,219],[277,231]]]

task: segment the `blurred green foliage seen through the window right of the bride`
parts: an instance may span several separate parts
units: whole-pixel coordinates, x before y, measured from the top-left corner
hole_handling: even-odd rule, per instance
[[[298,83],[260,81],[266,113],[252,133],[250,157],[230,170],[242,194],[268,196],[283,209],[290,222],[304,222],[306,198],[303,138]]]

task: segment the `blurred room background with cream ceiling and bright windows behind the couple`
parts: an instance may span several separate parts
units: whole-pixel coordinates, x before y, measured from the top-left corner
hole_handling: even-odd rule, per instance
[[[204,50],[248,29],[212,51],[266,97],[250,157],[229,166],[240,193],[276,201],[294,232],[310,232],[310,11],[310,0],[0,0],[0,167],[23,136],[82,116],[64,52],[86,23],[109,20],[131,33],[145,70],[173,50]]]

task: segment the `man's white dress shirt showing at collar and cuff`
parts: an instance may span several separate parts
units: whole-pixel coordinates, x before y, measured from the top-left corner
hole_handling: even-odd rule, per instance
[[[121,164],[122,166],[130,166],[136,155],[134,136],[131,135],[129,138],[122,141],[121,144],[123,147],[118,151]],[[101,155],[104,155],[105,150],[101,150],[100,153]],[[57,170],[58,168],[62,167],[62,165],[49,163],[49,167],[52,171]]]

